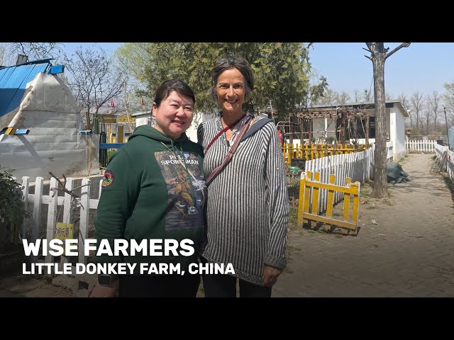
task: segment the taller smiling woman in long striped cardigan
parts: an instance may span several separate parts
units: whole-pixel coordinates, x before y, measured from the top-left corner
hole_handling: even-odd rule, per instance
[[[273,120],[243,111],[254,87],[243,58],[217,60],[211,85],[221,113],[197,132],[208,186],[201,257],[214,268],[232,263],[235,273],[204,275],[205,296],[236,297],[239,279],[240,297],[270,297],[287,263],[289,220],[277,130]]]

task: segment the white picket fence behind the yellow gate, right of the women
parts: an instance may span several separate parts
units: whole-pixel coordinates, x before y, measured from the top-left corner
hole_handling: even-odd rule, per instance
[[[352,154],[337,154],[335,156],[313,159],[306,162],[305,171],[311,171],[314,181],[314,174],[320,173],[320,182],[329,183],[329,175],[334,174],[335,184],[345,186],[345,178],[350,177],[352,183],[358,181],[365,183],[370,179],[370,171],[374,163],[374,147],[362,152]],[[301,174],[301,178],[304,173]],[[336,191],[334,193],[333,203],[338,203],[343,199],[343,193]],[[312,203],[313,204],[313,203]],[[319,191],[319,211],[325,211],[328,204],[328,190],[320,189]]]

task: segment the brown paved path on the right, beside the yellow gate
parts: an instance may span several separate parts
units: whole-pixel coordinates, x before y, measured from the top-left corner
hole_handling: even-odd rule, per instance
[[[358,236],[290,231],[272,296],[454,296],[454,204],[432,157],[409,154],[401,164],[412,181],[389,184],[389,198],[362,186]]]

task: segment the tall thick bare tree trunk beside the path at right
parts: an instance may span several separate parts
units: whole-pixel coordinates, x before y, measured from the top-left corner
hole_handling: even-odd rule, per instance
[[[384,99],[384,62],[388,57],[400,50],[402,47],[409,47],[410,42],[403,42],[391,52],[384,48],[383,42],[366,42],[374,69],[374,96],[375,96],[375,174],[374,190],[372,196],[384,198],[387,196],[387,174],[386,174],[386,116]]]

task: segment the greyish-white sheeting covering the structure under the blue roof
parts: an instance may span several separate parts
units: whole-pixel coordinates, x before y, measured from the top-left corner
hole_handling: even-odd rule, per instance
[[[82,136],[82,118],[70,89],[54,74],[38,73],[18,108],[2,117],[4,126],[28,135],[0,135],[0,165],[20,179],[99,174],[99,136]],[[7,123],[9,121],[9,123]]]

